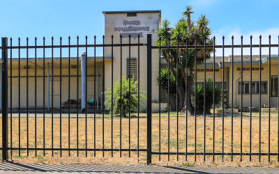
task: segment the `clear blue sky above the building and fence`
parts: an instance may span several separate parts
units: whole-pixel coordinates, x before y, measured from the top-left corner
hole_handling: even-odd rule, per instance
[[[218,44],[221,44],[223,35],[226,38],[234,35],[236,44],[243,35],[244,42],[248,43],[251,34],[255,43],[259,42],[259,34],[263,35],[263,42],[268,42],[269,34],[273,42],[278,42],[279,2],[276,0],[1,0],[0,33],[13,39],[21,37],[22,44],[27,36],[30,44],[35,36],[39,43],[45,36],[47,44],[50,44],[52,36],[56,43],[62,36],[66,44],[69,35],[72,38],[79,35],[82,43],[85,35],[101,38],[104,34],[104,10],[162,10],[162,19],[169,19],[174,25],[186,5],[193,6],[194,20],[201,14],[206,15]],[[230,44],[231,41],[226,40],[226,43]]]

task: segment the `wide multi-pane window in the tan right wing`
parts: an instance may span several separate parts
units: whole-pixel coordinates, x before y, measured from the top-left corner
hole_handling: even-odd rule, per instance
[[[238,84],[238,92],[241,94],[241,82]],[[252,81],[252,94],[259,93],[259,81]],[[267,93],[267,81],[262,81],[262,94]],[[242,94],[250,94],[250,81],[243,81],[242,83]]]

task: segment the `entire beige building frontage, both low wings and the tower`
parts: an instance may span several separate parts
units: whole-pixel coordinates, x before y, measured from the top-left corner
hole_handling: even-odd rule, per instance
[[[156,45],[157,35],[156,31],[160,27],[161,12],[160,10],[138,10],[138,11],[104,11],[105,17],[105,44],[110,45],[112,43],[112,37],[114,44],[120,43],[120,35],[122,35],[122,43],[138,43],[138,35],[140,35],[140,43],[147,42],[147,34],[152,34],[152,45]],[[83,51],[83,50],[82,50]],[[81,54],[82,52],[80,52]],[[130,54],[129,54],[130,53]],[[146,92],[147,84],[147,69],[146,69],[146,47],[141,46],[140,52],[138,47],[122,47],[122,54],[120,47],[114,47],[113,55],[112,48],[105,47],[104,49],[105,61],[103,62],[103,56],[96,56],[96,70],[94,70],[94,57],[87,57],[87,99],[91,100],[96,98],[97,108],[102,109],[103,103],[103,87],[105,90],[111,88],[112,81],[115,83],[119,81],[122,73],[122,77],[128,79],[128,77],[135,77],[140,79],[140,90]],[[122,58],[122,65],[121,63]],[[130,59],[129,59],[130,58]],[[53,107],[59,109],[60,106],[60,58],[46,57],[43,61],[43,57],[38,56],[36,73],[37,83],[35,84],[35,58],[29,57],[28,66],[27,58],[12,58],[13,61],[8,60],[8,84],[9,93],[8,100],[13,100],[12,106],[10,102],[8,107],[13,109],[27,108],[27,102],[29,109],[36,106],[38,109],[43,108],[43,96],[45,96],[45,108],[50,109]],[[128,70],[128,65],[131,69]],[[250,107],[250,56],[243,56],[243,108]],[[278,107],[278,56],[271,56],[269,60],[268,55],[262,55],[262,60],[259,60],[259,56],[252,56],[252,107],[259,107],[259,61],[262,61],[262,103],[269,104],[269,85],[271,85],[271,107]],[[271,81],[269,81],[269,61],[271,61]],[[61,100],[67,102],[68,94],[70,93],[70,100],[81,99],[82,96],[82,81],[81,81],[81,58],[76,56],[61,58]],[[12,66],[10,66],[12,63]],[[103,63],[105,63],[103,70]],[[113,63],[113,70],[112,70]],[[153,111],[158,111],[158,84],[156,77],[159,72],[159,55],[158,50],[152,49],[152,107]],[[138,68],[140,65],[140,69]],[[162,60],[161,67],[165,67],[166,63]],[[10,74],[10,67],[12,67],[12,74]],[[45,68],[44,68],[45,67]],[[122,72],[121,68],[122,67]],[[227,107],[240,108],[241,107],[241,56],[234,55],[234,68],[232,69],[232,56],[216,57],[216,63],[213,65],[213,58],[206,61],[206,79],[213,79],[213,69],[216,70],[216,85],[222,86],[224,79],[225,89],[227,89]],[[28,99],[27,99],[27,70],[28,70]],[[45,70],[45,74],[44,73]],[[105,74],[103,74],[103,71]],[[20,72],[20,73],[19,73]],[[53,72],[53,74],[52,74]],[[96,72],[96,74],[94,74]],[[129,74],[129,72],[131,72]],[[224,76],[223,76],[224,72]],[[232,73],[234,78],[232,79]],[[10,75],[12,75],[12,81],[10,81]],[[113,77],[112,77],[113,76]],[[20,78],[19,78],[20,77]],[[77,78],[78,77],[78,78]],[[140,78],[138,78],[140,77]],[[53,78],[53,96],[52,96],[52,78]],[[96,79],[96,81],[95,81]],[[43,86],[45,81],[45,86]],[[204,81],[204,65],[198,65],[197,68],[197,83],[202,84]],[[12,84],[12,85],[11,85]],[[105,86],[103,86],[103,84]],[[10,96],[10,86],[13,91],[13,96]],[[35,86],[37,93],[35,94]],[[96,86],[96,89],[94,89]],[[43,89],[45,87],[45,95]],[[232,90],[233,88],[233,90]],[[96,93],[94,93],[96,91]],[[77,97],[78,95],[78,97]],[[146,93],[144,93],[146,95]],[[162,93],[162,102],[165,94]],[[232,102],[232,96],[234,101]],[[165,96],[166,98],[166,96]],[[20,104],[20,105],[19,105]],[[1,106],[1,104],[0,104]],[[164,103],[161,106],[163,111],[167,104]],[[142,110],[146,109],[146,105],[142,106]]]

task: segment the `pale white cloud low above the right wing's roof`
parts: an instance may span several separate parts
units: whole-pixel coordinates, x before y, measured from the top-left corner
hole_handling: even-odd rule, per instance
[[[232,45],[232,35],[234,35],[234,45],[241,45],[241,35],[243,35],[243,45],[250,45],[250,35],[252,35],[253,45],[259,45],[259,35],[262,35],[262,45],[269,44],[269,35],[271,35],[271,44],[278,44],[279,28],[243,33],[239,27],[234,29],[226,27],[219,31],[213,31],[213,35],[216,36],[216,45],[223,44],[223,35],[225,36],[225,45]],[[262,48],[262,54],[269,54],[269,48]],[[278,55],[278,47],[271,48],[271,54]],[[216,56],[222,55],[222,49],[216,49]],[[232,49],[225,49],[225,56],[229,55],[232,55]],[[241,49],[234,48],[234,55],[241,55]],[[243,48],[243,55],[250,55],[250,48]],[[252,55],[259,55],[259,48],[252,48]]]

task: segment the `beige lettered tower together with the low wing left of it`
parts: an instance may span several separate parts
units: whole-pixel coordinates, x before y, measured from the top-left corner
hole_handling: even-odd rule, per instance
[[[120,35],[122,35],[123,44],[129,42],[129,35],[131,35],[130,42],[137,43],[137,35],[140,35],[140,43],[147,42],[147,34],[152,34],[153,44],[156,42],[156,30],[160,26],[160,10],[141,10],[141,11],[105,11],[105,44],[112,43],[112,36],[114,37],[114,44],[120,43]],[[82,44],[82,43],[80,43]],[[97,43],[98,44],[98,43]],[[82,49],[85,49],[84,47]],[[140,47],[140,54],[137,52],[137,47],[131,47],[131,74],[130,76],[139,77],[140,75],[140,90],[146,91],[146,46]],[[31,50],[31,49],[29,49]],[[16,50],[15,50],[16,51]],[[81,99],[82,96],[82,61],[81,54],[77,58],[76,49],[70,54],[70,67],[69,57],[62,56],[61,58],[61,102],[67,102],[70,93],[70,100]],[[24,52],[24,49],[22,49]],[[33,51],[29,51],[33,52]],[[15,54],[13,54],[15,55]],[[57,54],[56,54],[57,55]],[[140,55],[140,57],[138,57]],[[153,91],[158,90],[156,85],[156,75],[158,73],[158,53],[153,50]],[[96,86],[96,109],[102,109],[103,103],[103,81],[105,90],[111,88],[112,79],[114,82],[120,79],[120,47],[114,47],[114,54],[112,55],[111,47],[105,47],[104,49],[105,62],[103,62],[103,55],[96,56],[96,70],[94,70],[94,56],[87,57],[87,99],[94,98],[94,86]],[[13,109],[35,108],[35,96],[36,107],[38,109],[43,108],[43,96],[45,96],[45,108],[52,108],[52,99],[54,109],[60,107],[60,57],[54,56],[53,66],[52,58],[45,57],[43,61],[42,54],[37,56],[36,62],[34,56],[29,56],[28,66],[27,58],[21,57],[20,61],[18,57],[12,58],[8,56],[8,100],[12,100],[12,106],[10,102],[8,107]],[[128,61],[129,61],[129,49],[128,47],[122,48],[122,77],[128,78]],[[12,66],[10,66],[12,63]],[[45,63],[45,65],[44,65]],[[105,64],[105,70],[103,74],[103,63]],[[113,77],[112,77],[112,63],[114,64]],[[35,68],[36,64],[36,68]],[[138,65],[140,64],[140,70]],[[12,74],[10,74],[10,67],[12,68]],[[44,68],[45,67],[45,68]],[[35,84],[35,70],[36,70],[36,84]],[[44,73],[45,70],[45,74]],[[27,80],[28,71],[28,80]],[[96,74],[94,74],[94,71]],[[20,73],[19,73],[20,72]],[[52,74],[53,72],[53,74]],[[12,75],[12,81],[10,81],[10,75]],[[20,77],[20,78],[19,78]],[[52,78],[53,78],[53,96],[52,96]],[[96,79],[96,82],[95,82]],[[45,95],[43,90],[43,81],[45,81]],[[27,83],[28,83],[28,98],[27,98]],[[10,85],[12,84],[12,85]],[[12,97],[10,96],[10,86],[12,86]],[[36,94],[35,94],[36,86]],[[78,96],[77,96],[78,95]],[[146,95],[146,93],[144,93]],[[158,95],[153,93],[153,100],[158,100]],[[143,106],[142,110],[146,109]]]

